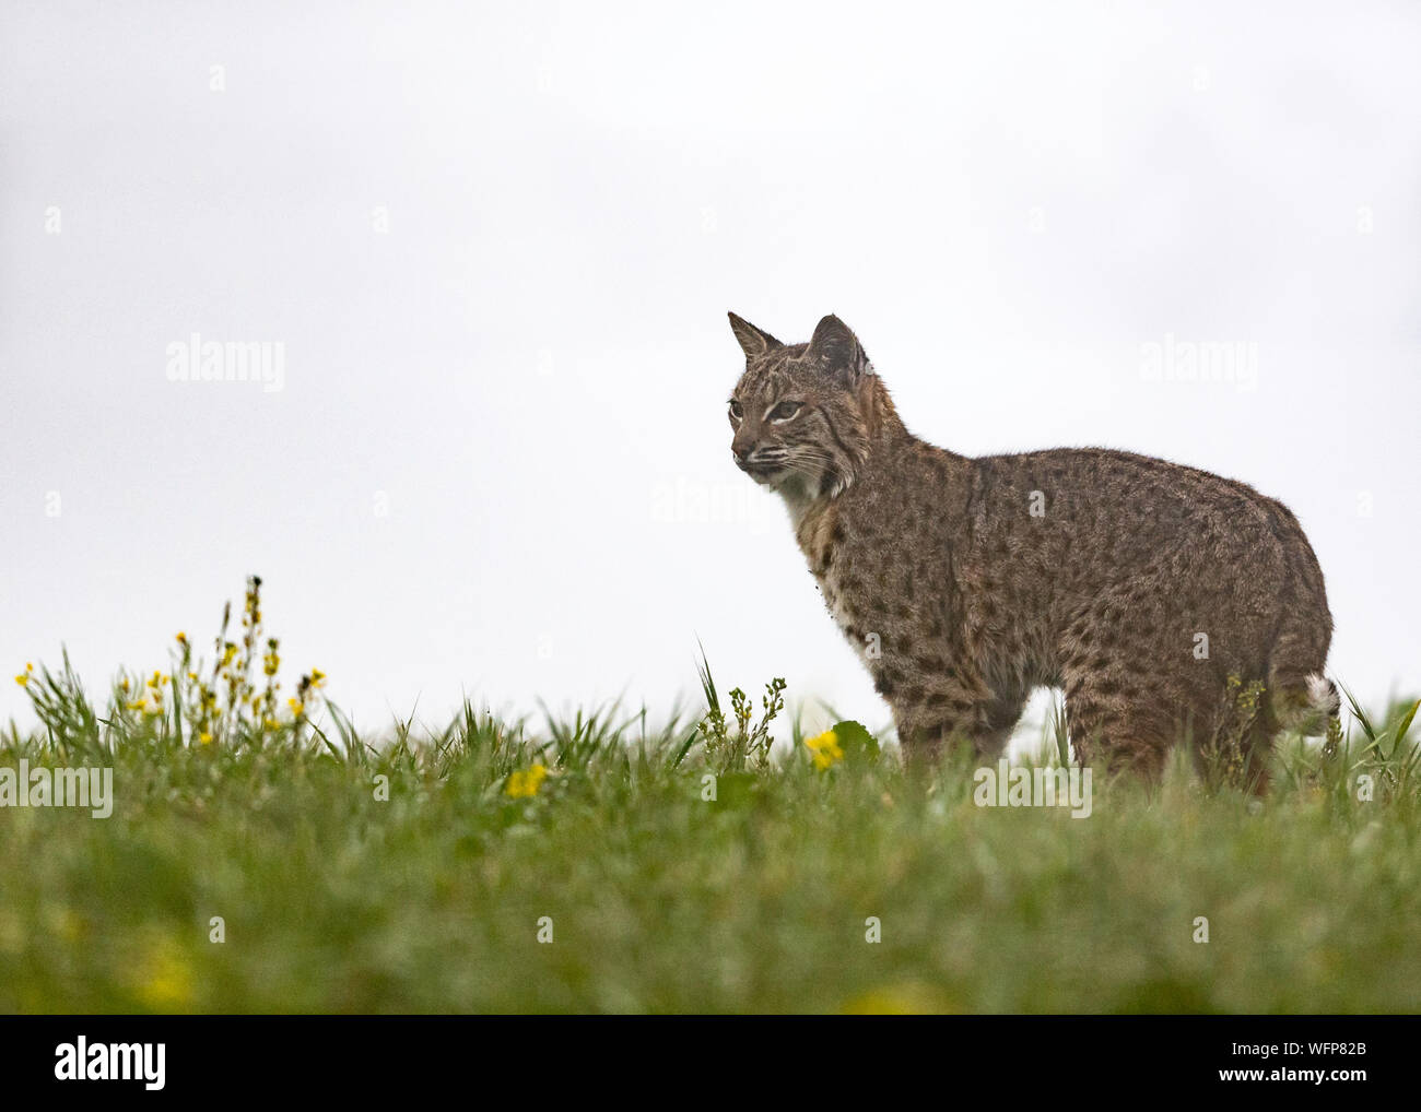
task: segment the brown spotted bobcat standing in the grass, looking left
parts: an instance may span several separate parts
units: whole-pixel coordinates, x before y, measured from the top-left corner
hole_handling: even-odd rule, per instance
[[[1147,778],[1175,741],[1199,754],[1233,730],[1262,790],[1279,730],[1333,729],[1323,574],[1285,506],[1127,452],[934,447],[837,317],[782,344],[729,315],[735,462],[783,496],[908,757],[953,738],[998,753],[1037,686],[1064,689],[1081,763]]]

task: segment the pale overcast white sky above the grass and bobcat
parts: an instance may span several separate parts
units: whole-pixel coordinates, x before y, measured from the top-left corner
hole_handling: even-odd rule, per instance
[[[0,659],[102,687],[256,571],[372,730],[666,710],[696,636],[885,724],[730,463],[733,308],[837,312],[958,452],[1282,498],[1334,675],[1415,689],[1418,54],[1408,3],[9,3]],[[284,389],[171,382],[192,332]]]

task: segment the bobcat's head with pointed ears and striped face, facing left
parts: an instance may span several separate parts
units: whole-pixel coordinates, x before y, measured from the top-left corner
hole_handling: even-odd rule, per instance
[[[834,496],[868,454],[874,368],[838,317],[826,317],[809,344],[780,344],[730,314],[745,349],[745,374],[730,393],[736,466],[790,498]]]

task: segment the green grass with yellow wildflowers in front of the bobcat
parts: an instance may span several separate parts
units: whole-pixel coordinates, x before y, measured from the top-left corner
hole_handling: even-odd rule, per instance
[[[929,774],[845,744],[820,770],[797,730],[791,751],[763,760],[736,744],[757,726],[739,714],[718,736],[615,710],[520,726],[470,707],[441,734],[396,726],[367,744],[315,712],[310,689],[298,716],[217,713],[219,699],[203,723],[196,683],[146,713],[135,679],[97,707],[67,669],[40,669],[27,683],[40,729],[0,737],[0,767],[108,764],[117,795],[108,819],[0,810],[3,1011],[1350,1013],[1421,1000],[1410,703],[1358,721],[1331,758],[1285,747],[1262,802],[1206,791],[1181,760],[1154,792],[1096,783],[1091,815],[1074,819],[976,807],[961,761]],[[239,696],[264,712],[246,683]],[[1056,758],[1049,738],[1042,751]],[[536,792],[510,797],[510,774],[539,763]],[[1371,801],[1357,800],[1361,774]],[[1208,943],[1194,942],[1199,916]]]

